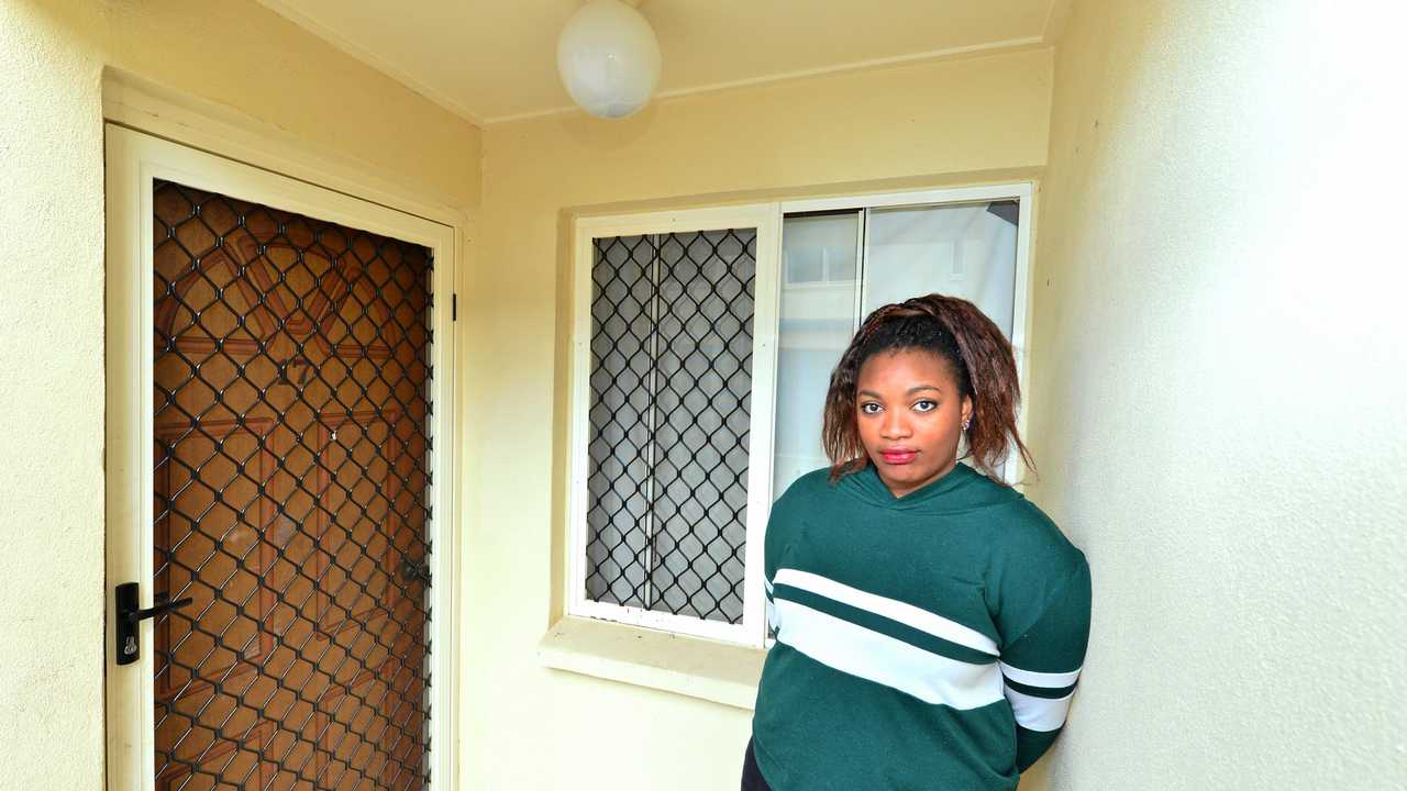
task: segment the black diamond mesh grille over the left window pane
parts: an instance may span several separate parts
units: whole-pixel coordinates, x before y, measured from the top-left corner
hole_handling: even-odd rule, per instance
[[[753,228],[595,239],[587,597],[743,618]]]

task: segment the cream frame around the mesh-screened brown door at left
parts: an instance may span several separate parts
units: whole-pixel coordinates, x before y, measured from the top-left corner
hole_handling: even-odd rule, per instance
[[[432,274],[432,481],[426,525],[431,553],[431,777],[435,788],[457,788],[459,508],[454,425],[453,294],[463,228],[388,208],[308,180],[189,148],[118,124],[104,124],[107,155],[106,266],[106,564],[103,598],[107,712],[107,788],[155,788],[152,621],[141,625],[141,660],[115,664],[118,583],[141,580],[141,605],[152,605],[152,183],[172,180],[241,200],[350,225],[424,245]],[[135,735],[134,735],[135,733]]]

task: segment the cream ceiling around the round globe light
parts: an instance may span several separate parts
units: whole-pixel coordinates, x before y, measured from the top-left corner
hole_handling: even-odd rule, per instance
[[[630,1],[630,0],[628,0]],[[557,34],[582,0],[259,0],[476,124],[568,110]],[[1050,41],[1064,0],[644,0],[657,96]]]

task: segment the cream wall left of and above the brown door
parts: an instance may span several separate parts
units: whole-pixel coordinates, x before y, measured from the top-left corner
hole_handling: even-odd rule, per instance
[[[477,128],[252,1],[0,3],[4,788],[103,787],[104,66],[478,201]]]

